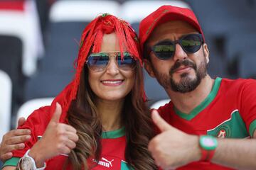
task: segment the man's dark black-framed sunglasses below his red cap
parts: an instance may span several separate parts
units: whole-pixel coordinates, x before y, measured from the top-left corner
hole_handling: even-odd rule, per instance
[[[152,51],[160,60],[169,60],[174,57],[176,44],[181,45],[186,53],[197,52],[203,44],[203,36],[201,34],[183,35],[179,40],[163,40],[150,47],[149,53]],[[148,54],[149,54],[148,53]]]

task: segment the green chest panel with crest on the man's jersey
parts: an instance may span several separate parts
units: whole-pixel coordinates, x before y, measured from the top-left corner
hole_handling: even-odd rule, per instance
[[[245,138],[249,134],[238,110],[231,113],[231,118],[223,121],[212,130],[207,130],[207,135],[225,138]]]

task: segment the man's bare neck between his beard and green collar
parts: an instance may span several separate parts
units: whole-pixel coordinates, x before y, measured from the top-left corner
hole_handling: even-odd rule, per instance
[[[196,106],[203,102],[203,100],[210,94],[213,89],[214,79],[207,75],[202,79],[201,83],[195,90],[182,94],[176,91],[167,90],[174,106],[182,113],[191,113]]]

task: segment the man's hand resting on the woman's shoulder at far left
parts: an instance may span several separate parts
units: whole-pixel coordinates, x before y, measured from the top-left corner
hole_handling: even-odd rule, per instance
[[[26,122],[25,118],[18,119],[18,126],[23,125]],[[13,154],[11,153],[16,149],[23,149],[25,147],[24,142],[31,138],[31,130],[29,129],[16,129],[7,132],[2,139],[0,145],[0,160],[5,162],[7,159],[11,159]]]

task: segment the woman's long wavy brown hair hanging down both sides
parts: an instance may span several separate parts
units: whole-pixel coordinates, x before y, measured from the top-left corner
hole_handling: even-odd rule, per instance
[[[81,74],[78,95],[70,105],[68,123],[78,133],[77,146],[70,153],[73,169],[89,169],[87,159],[100,158],[102,124],[100,113],[95,105],[95,94],[88,83],[88,69]],[[154,136],[149,108],[144,103],[142,67],[136,67],[135,82],[132,91],[126,96],[122,108],[122,123],[124,123],[127,147],[125,159],[134,169],[156,169],[154,160],[147,149],[151,137]]]

